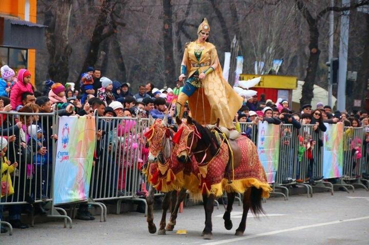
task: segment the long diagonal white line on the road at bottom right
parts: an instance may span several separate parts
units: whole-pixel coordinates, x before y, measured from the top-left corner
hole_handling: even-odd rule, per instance
[[[335,220],[335,221],[331,221],[331,222],[318,223],[318,224],[308,225],[308,226],[297,226],[297,227],[294,227],[294,228],[277,230],[277,231],[270,231],[270,232],[259,233],[259,234],[250,235],[250,236],[237,237],[237,238],[221,240],[221,241],[213,241],[213,242],[203,243],[201,245],[225,244],[225,243],[230,243],[230,242],[234,242],[234,241],[248,240],[248,239],[252,239],[252,238],[255,238],[255,237],[270,236],[270,235],[284,233],[284,232],[298,231],[298,230],[303,230],[303,229],[308,229],[308,228],[313,228],[313,227],[320,227],[320,226],[329,226],[329,225],[335,225],[335,224],[344,223],[344,222],[353,222],[353,221],[357,221],[357,220],[368,219],[368,218],[369,218],[369,216],[364,216],[364,217],[360,217],[360,218]]]

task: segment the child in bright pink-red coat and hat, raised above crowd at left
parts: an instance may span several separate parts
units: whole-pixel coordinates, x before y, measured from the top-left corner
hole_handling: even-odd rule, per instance
[[[25,92],[33,93],[31,72],[26,69],[20,69],[18,71],[18,81],[12,87],[12,92],[10,93],[10,104],[13,110],[19,110],[19,106],[22,105],[22,94]]]

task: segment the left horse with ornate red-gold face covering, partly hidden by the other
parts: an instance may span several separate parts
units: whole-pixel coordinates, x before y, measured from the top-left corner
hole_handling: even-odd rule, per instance
[[[148,231],[153,234],[156,233],[156,226],[154,224],[154,194],[156,189],[159,191],[166,192],[164,195],[162,203],[162,218],[160,221],[160,228],[158,231],[159,235],[165,235],[166,231],[172,231],[176,225],[176,219],[178,215],[178,210],[181,202],[186,197],[186,189],[183,188],[183,182],[173,183],[166,185],[165,179],[168,174],[168,162],[170,161],[171,155],[171,129],[167,127],[167,117],[164,119],[156,119],[149,116],[149,130],[144,134],[144,136],[149,141],[149,155],[147,157],[148,165],[144,170],[144,174],[147,176],[150,187],[148,190],[148,195],[146,197],[147,203],[147,223]],[[165,169],[165,166],[167,169]],[[160,171],[162,170],[162,171]],[[154,173],[154,174],[153,174]],[[169,173],[169,175],[171,172]],[[160,176],[155,176],[160,175]],[[163,183],[164,182],[164,187]],[[177,192],[178,197],[177,197]],[[169,222],[166,225],[166,213],[170,206],[170,203],[176,204],[174,208],[171,209],[171,215]]]

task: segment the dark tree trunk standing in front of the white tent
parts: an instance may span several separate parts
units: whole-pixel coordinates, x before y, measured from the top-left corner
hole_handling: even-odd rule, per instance
[[[313,89],[316,78],[316,71],[319,63],[320,50],[318,47],[319,31],[316,21],[309,22],[309,61],[306,69],[305,83],[302,85],[300,105],[310,104],[314,97]]]

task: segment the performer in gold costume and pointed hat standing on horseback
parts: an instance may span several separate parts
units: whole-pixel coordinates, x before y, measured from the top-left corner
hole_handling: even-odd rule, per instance
[[[191,116],[202,125],[215,124],[233,129],[233,118],[243,99],[223,78],[215,46],[208,42],[210,27],[206,18],[198,28],[198,39],[186,43],[179,81],[188,74],[177,100],[177,116],[182,118],[188,101]]]

